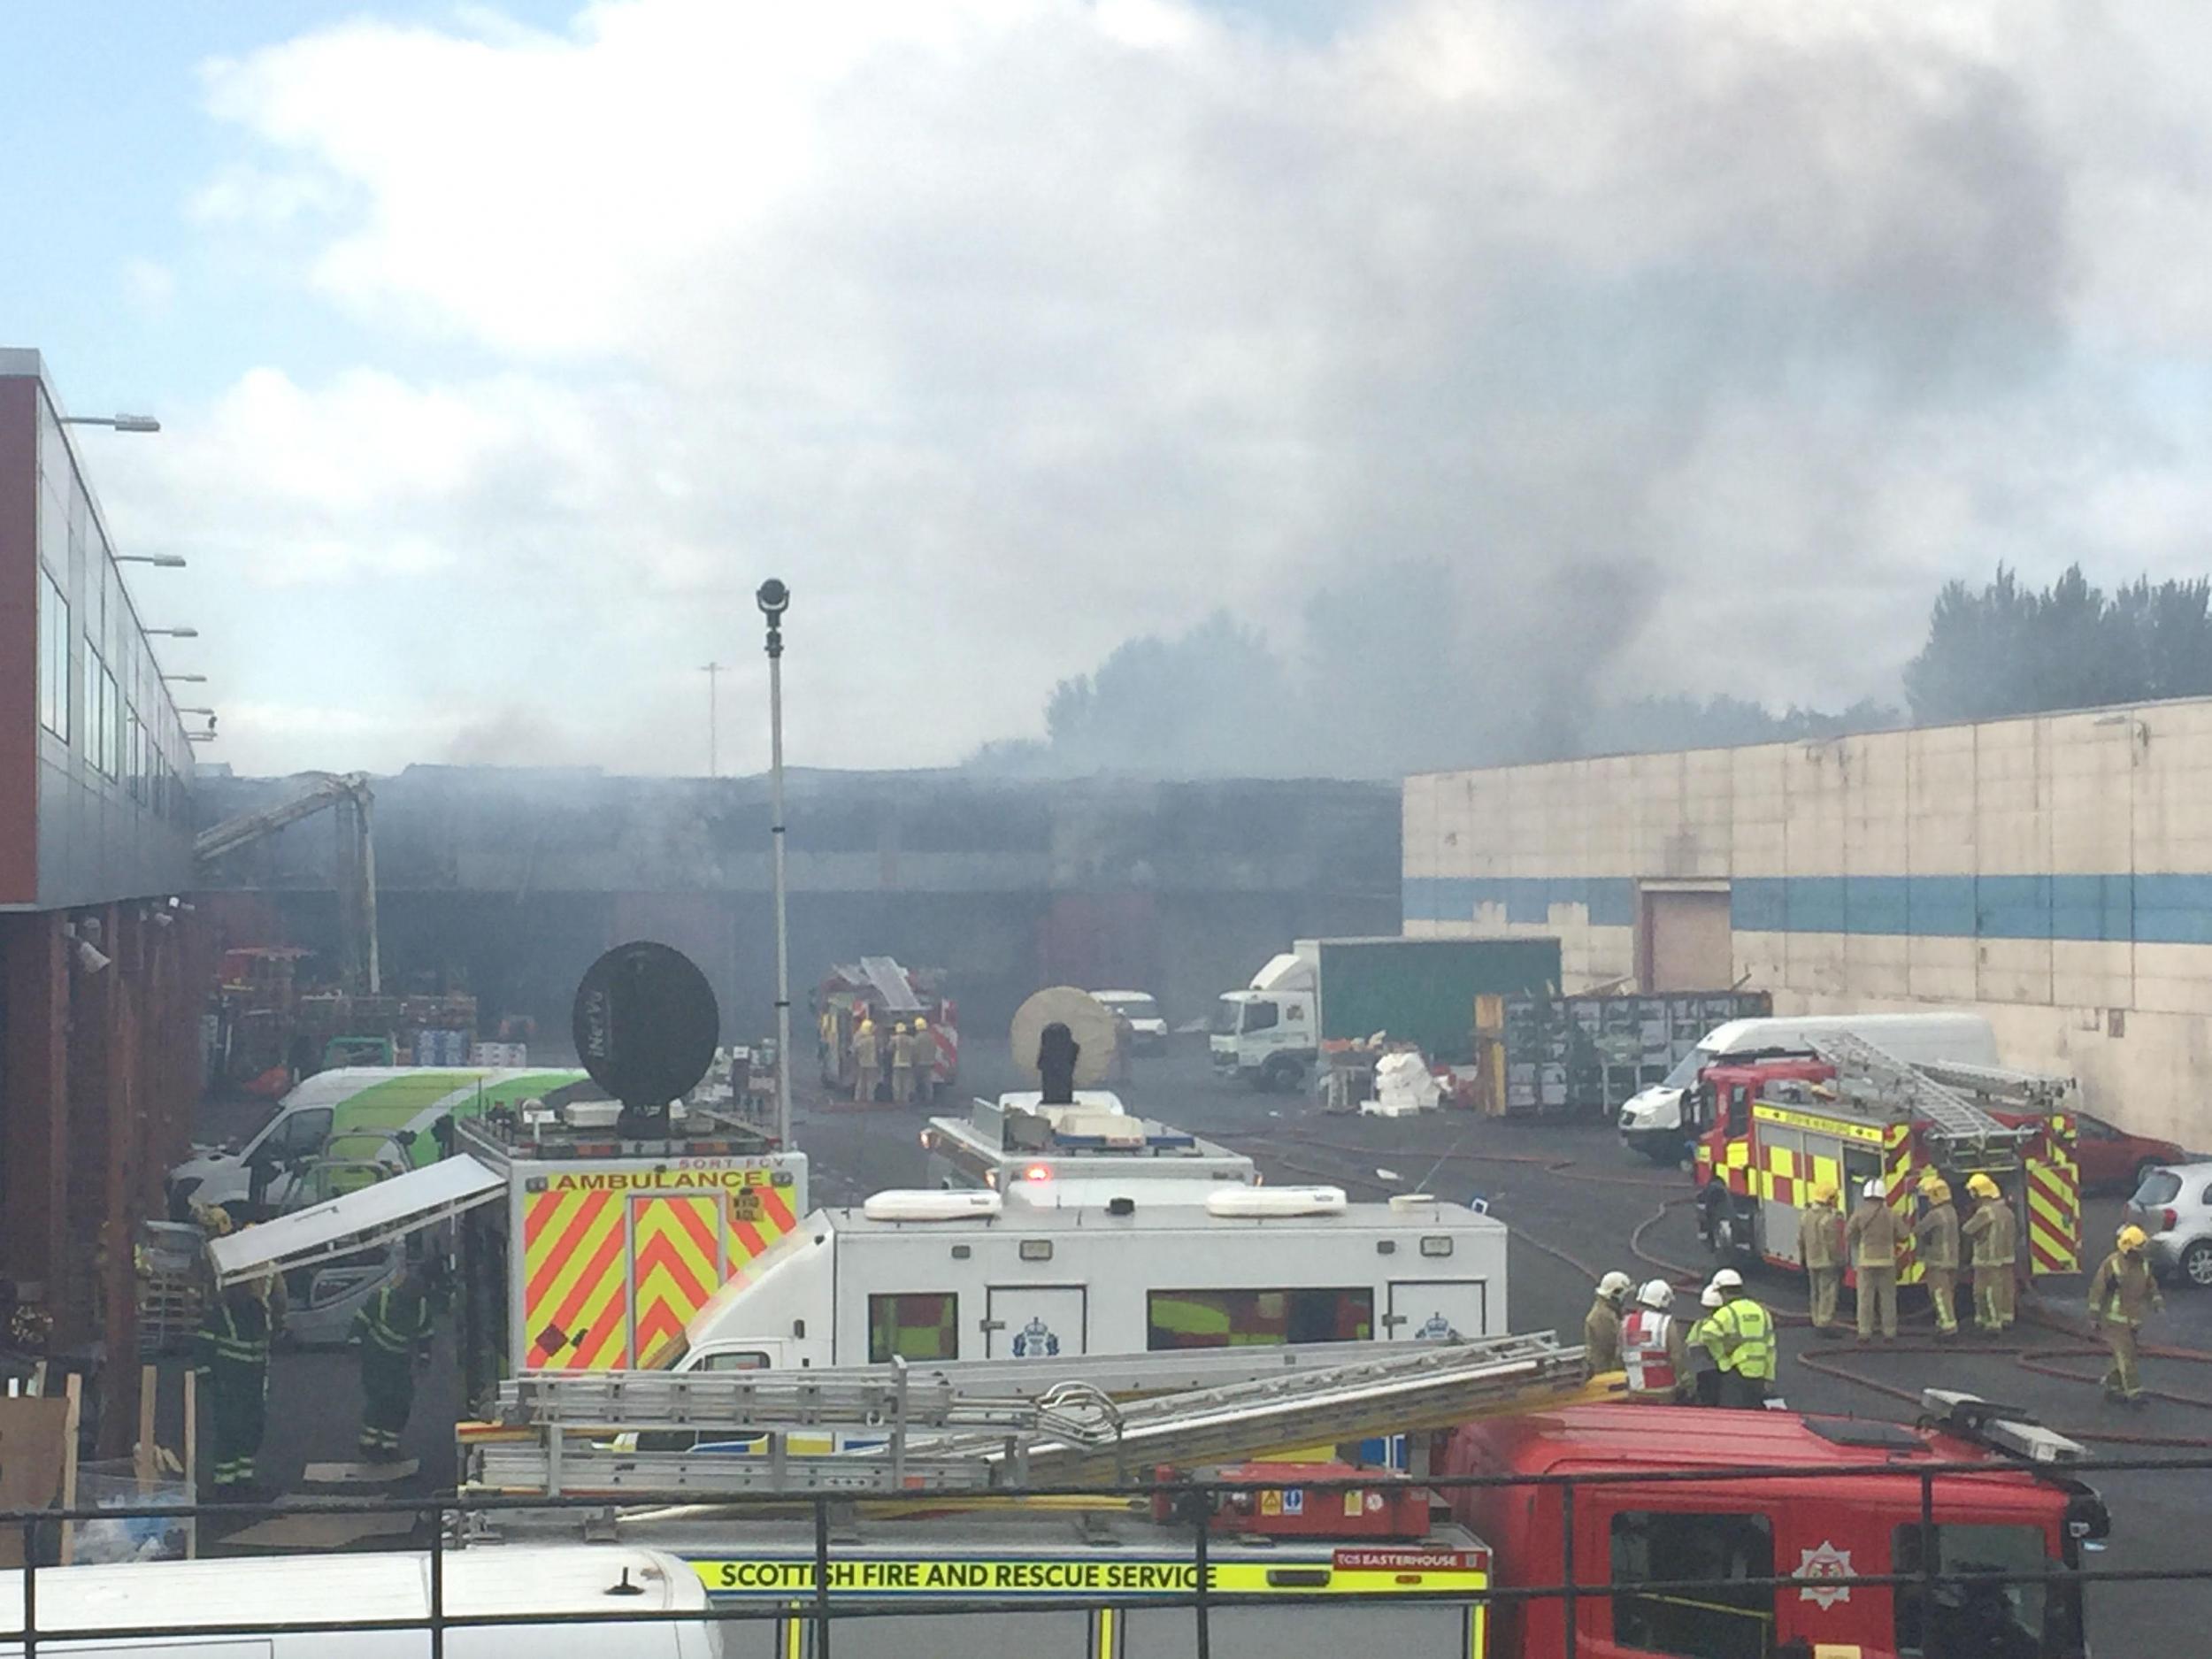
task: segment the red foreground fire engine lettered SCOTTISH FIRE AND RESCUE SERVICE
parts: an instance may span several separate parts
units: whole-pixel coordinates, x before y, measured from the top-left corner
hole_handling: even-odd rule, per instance
[[[476,1498],[628,1502],[493,1511],[476,1537],[584,1520],[681,1557],[714,1604],[752,1615],[728,1626],[741,1652],[805,1652],[818,1617],[836,1619],[836,1652],[1192,1652],[1199,1593],[1230,1644],[1214,1650],[1279,1659],[2084,1650],[2079,1551],[2108,1520],[2066,1471],[2084,1455],[2073,1440],[1942,1391],[1902,1427],[1615,1405],[1604,1389],[1548,1334],[524,1376],[493,1422],[462,1425],[462,1467]],[[608,1425],[681,1436],[611,1449]],[[739,1425],[776,1444],[692,1444]],[[863,1427],[883,1436],[867,1451],[790,1449]],[[1422,1442],[1418,1473],[1290,1451],[1385,1427]],[[1168,1491],[1148,1493],[1152,1478]],[[653,1506],[677,1491],[684,1506]],[[816,1533],[765,1493],[836,1495],[838,1520]],[[1891,1573],[1924,1584],[1854,1582]],[[1568,1582],[1573,1604],[1495,1595]]]

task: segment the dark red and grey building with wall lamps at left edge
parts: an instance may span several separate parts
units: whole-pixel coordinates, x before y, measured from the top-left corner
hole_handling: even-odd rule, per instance
[[[0,1340],[128,1451],[139,1223],[199,1095],[192,745],[35,352],[0,349]]]

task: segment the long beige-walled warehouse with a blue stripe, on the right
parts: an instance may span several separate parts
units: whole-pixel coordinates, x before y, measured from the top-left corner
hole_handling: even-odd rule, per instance
[[[1405,783],[1405,931],[1557,933],[1568,991],[1973,1009],[2212,1146],[2212,699]]]

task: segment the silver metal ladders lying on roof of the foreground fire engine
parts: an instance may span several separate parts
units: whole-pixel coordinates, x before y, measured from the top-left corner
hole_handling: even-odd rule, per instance
[[[529,1374],[500,1385],[498,1420],[467,1429],[462,1442],[478,1493],[712,1502],[770,1491],[1119,1484],[1157,1464],[1447,1427],[1579,1385],[1582,1349],[1551,1334],[929,1369]],[[1117,1402],[1113,1391],[1150,1394]],[[794,1433],[825,1431],[869,1444],[790,1447]],[[615,1444],[615,1433],[646,1444]],[[726,1449],[655,1449],[650,1440],[664,1436]],[[765,1455],[752,1455],[752,1442]]]

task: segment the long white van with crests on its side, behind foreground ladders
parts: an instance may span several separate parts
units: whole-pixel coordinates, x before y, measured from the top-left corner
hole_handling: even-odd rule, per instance
[[[1451,1340],[1506,1329],[1506,1228],[1338,1188],[1022,1181],[816,1210],[726,1283],[661,1369]]]

